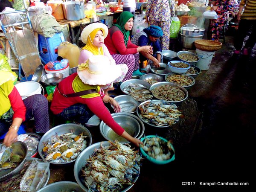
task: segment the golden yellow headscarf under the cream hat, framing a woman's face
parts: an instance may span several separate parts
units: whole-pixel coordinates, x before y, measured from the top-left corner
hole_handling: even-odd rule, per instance
[[[94,29],[94,30],[88,35],[86,46],[84,46],[84,47],[82,48],[82,49],[86,49],[86,50],[92,52],[93,55],[103,55],[103,54],[104,54],[102,47],[96,47],[95,45],[93,45],[93,39],[94,39],[96,33],[97,33],[99,30],[102,30],[102,33],[103,33],[103,35],[104,35],[104,30],[103,30],[102,28]]]

